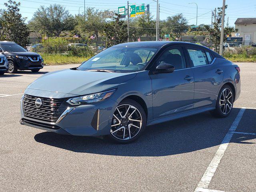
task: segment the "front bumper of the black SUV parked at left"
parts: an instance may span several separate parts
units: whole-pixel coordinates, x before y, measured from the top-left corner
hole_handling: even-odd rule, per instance
[[[44,67],[44,60],[38,59],[36,61],[31,61],[30,59],[19,59],[16,58],[15,62],[19,70],[32,70],[32,69],[42,69]]]

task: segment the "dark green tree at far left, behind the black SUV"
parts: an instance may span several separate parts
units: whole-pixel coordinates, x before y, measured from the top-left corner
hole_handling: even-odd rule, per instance
[[[0,14],[0,33],[1,40],[14,41],[21,46],[28,44],[29,31],[25,24],[25,18],[22,18],[19,9],[20,3],[8,0],[4,3],[7,10]]]

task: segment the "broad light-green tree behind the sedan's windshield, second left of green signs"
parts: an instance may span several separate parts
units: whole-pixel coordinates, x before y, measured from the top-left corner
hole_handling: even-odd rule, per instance
[[[88,32],[93,33],[98,39],[99,33],[103,32],[106,24],[106,19],[103,17],[104,12],[100,12],[98,9],[88,7],[84,16],[77,16],[78,30],[80,33]],[[91,34],[90,34],[91,35]]]

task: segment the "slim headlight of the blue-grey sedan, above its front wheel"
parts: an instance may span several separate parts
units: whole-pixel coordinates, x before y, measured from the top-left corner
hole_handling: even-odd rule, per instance
[[[95,102],[102,101],[106,98],[109,98],[115,91],[116,90],[110,90],[110,91],[75,97],[67,100],[67,102],[71,105],[83,105],[83,104],[95,103]]]

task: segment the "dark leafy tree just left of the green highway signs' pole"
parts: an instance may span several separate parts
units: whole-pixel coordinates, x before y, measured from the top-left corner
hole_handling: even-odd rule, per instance
[[[107,38],[107,47],[127,42],[127,24],[121,20],[121,15],[116,14],[113,20],[105,25],[104,33]]]

